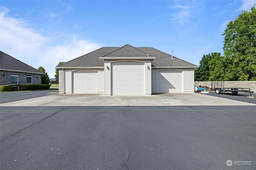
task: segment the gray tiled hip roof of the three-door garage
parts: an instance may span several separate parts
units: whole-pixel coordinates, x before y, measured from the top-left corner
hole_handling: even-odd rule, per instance
[[[104,62],[100,59],[108,58],[142,58],[156,57],[152,61],[152,67],[190,67],[197,68],[195,64],[189,63],[167,53],[154,49],[152,47],[132,47],[124,45],[123,47],[102,47],[86,55],[68,61],[57,67],[104,67]]]

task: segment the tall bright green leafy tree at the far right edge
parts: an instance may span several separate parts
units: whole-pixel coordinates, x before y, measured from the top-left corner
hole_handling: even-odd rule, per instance
[[[224,38],[225,74],[222,80],[256,80],[256,8],[242,11],[228,23]]]

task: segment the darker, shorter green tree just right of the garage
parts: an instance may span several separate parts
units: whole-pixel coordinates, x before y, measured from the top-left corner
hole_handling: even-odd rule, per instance
[[[220,53],[211,53],[204,55],[200,60],[200,65],[195,70],[195,81],[209,81],[210,78],[210,61]]]

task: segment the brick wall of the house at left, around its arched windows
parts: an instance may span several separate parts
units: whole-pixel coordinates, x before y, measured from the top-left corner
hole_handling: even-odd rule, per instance
[[[32,84],[41,84],[42,83],[42,75],[41,74],[1,70],[1,72],[0,72],[0,85],[16,86],[16,84],[11,84],[11,74],[12,73],[18,74],[18,84],[27,84],[27,75],[28,74],[30,74],[32,76]]]

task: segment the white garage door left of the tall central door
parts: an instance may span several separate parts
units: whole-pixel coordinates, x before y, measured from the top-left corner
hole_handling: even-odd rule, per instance
[[[91,70],[73,72],[73,93],[98,93],[98,72]]]

